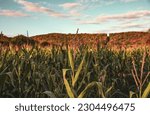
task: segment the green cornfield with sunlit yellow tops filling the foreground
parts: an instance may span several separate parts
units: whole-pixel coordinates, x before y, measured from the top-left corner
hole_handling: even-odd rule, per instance
[[[2,47],[0,97],[150,97],[150,50]]]

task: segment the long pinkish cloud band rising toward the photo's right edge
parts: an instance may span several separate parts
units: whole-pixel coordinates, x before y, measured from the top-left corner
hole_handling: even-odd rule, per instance
[[[81,24],[100,24],[109,21],[126,21],[126,20],[133,20],[133,19],[140,19],[143,17],[150,17],[149,10],[141,10],[141,11],[134,11],[128,12],[123,14],[113,14],[113,15],[100,15],[97,16],[95,19],[92,20],[82,20]]]

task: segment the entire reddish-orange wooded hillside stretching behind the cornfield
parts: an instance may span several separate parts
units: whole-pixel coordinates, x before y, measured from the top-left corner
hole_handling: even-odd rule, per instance
[[[23,45],[23,44],[39,44],[42,46],[48,45],[76,45],[81,44],[96,45],[109,45],[110,47],[134,47],[134,46],[150,46],[150,33],[149,32],[122,32],[111,33],[109,38],[107,34],[60,34],[50,33],[37,36],[26,37],[18,35],[15,37],[0,36],[0,44],[2,45]]]

